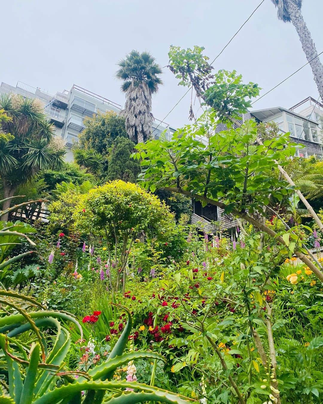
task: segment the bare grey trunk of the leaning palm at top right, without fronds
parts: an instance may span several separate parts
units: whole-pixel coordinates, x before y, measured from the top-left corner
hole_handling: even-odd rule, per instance
[[[312,68],[314,80],[319,90],[319,95],[321,96],[321,99],[323,99],[323,65],[320,59],[317,57],[315,43],[310,35],[310,31],[306,26],[300,9],[296,6],[294,1],[286,0],[286,5],[288,7],[291,21],[296,28],[296,31],[300,38],[300,42],[306,55],[306,59],[309,62],[310,67]]]

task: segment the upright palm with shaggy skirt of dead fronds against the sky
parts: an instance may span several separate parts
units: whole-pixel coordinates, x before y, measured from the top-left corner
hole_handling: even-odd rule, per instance
[[[150,53],[137,50],[132,50],[118,66],[116,77],[124,81],[121,90],[126,93],[121,113],[126,120],[126,131],[131,141],[141,143],[151,137],[151,96],[163,84],[158,77],[162,70]]]

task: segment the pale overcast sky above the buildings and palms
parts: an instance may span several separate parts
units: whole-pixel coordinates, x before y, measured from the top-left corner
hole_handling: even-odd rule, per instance
[[[1,4],[2,52],[0,81],[17,81],[50,94],[78,84],[124,105],[115,77],[117,61],[132,49],[149,50],[162,67],[168,64],[170,44],[204,46],[211,60],[252,13],[260,0],[11,0]],[[323,50],[322,0],[303,0],[302,13]],[[321,57],[321,60],[323,58]],[[245,82],[256,82],[261,94],[306,63],[291,23],[278,21],[271,0],[265,0],[214,68],[236,69]],[[164,85],[153,98],[160,120],[186,89],[165,68]],[[291,107],[318,97],[310,66],[254,104],[255,109]],[[166,122],[188,123],[189,95]],[[195,105],[195,110],[197,105]]]

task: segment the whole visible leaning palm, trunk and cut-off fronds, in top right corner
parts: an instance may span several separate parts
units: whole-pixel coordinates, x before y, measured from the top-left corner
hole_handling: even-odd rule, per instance
[[[323,99],[323,65],[317,57],[317,50],[315,48],[314,41],[310,35],[310,32],[303,19],[301,8],[302,0],[271,0],[277,7],[277,17],[284,22],[292,22],[300,42],[302,44],[303,51],[306,55],[306,59],[312,67],[314,80],[319,90],[319,95]]]

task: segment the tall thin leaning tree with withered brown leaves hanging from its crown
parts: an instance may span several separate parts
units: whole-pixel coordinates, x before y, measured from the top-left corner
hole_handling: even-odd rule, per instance
[[[200,102],[208,105],[216,111],[219,122],[233,124],[236,128],[242,126],[241,116],[248,113],[247,108],[251,102],[247,99],[257,97],[260,88],[258,84],[249,82],[244,84],[242,76],[237,72],[219,70],[212,73],[213,67],[208,63],[209,58],[203,55],[203,47],[195,46],[194,49],[181,49],[179,46],[171,46],[168,56],[170,58],[169,68],[176,78],[180,79],[179,85],[192,86]],[[192,104],[190,117],[193,118]],[[261,145],[262,139],[256,137],[255,141]],[[294,191],[306,206],[308,213],[313,217],[319,229],[323,232],[323,223],[308,203],[302,192],[296,188],[294,181],[289,177],[281,164],[275,160],[276,166],[281,175],[290,186],[295,187]]]

